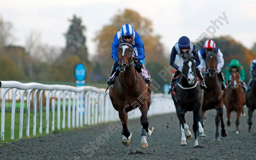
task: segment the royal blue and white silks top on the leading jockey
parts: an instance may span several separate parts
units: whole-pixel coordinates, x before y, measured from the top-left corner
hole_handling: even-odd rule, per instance
[[[116,33],[113,43],[112,43],[112,58],[118,62],[118,52],[117,52],[117,48],[119,47],[119,38],[121,37],[120,31]],[[123,42],[123,38],[122,38],[122,42]],[[135,52],[135,55],[137,57],[138,61],[141,61],[145,58],[145,51],[144,51],[144,44],[142,42],[142,39],[140,37],[140,35],[134,31],[134,35],[133,35],[133,51]],[[133,54],[134,54],[133,52]]]

